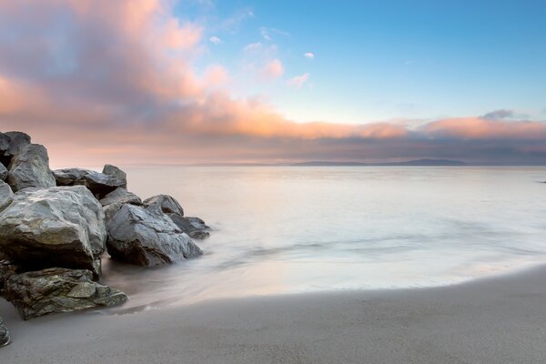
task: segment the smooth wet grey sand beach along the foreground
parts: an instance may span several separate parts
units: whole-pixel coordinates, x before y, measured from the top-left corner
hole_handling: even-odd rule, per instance
[[[545,363],[546,268],[444,288],[238,298],[22,321],[1,364]]]

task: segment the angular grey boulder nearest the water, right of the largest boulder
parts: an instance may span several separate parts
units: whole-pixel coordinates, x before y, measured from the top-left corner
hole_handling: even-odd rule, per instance
[[[130,264],[149,267],[203,254],[157,205],[123,205],[106,228],[108,254]]]

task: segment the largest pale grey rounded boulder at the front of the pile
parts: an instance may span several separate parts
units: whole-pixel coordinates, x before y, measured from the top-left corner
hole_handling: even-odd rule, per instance
[[[0,212],[0,249],[25,270],[86,268],[98,277],[102,207],[86,187],[27,188]]]

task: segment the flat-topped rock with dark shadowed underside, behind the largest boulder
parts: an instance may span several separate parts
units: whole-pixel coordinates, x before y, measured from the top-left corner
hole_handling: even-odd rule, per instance
[[[117,187],[126,187],[126,180],[89,169],[66,168],[53,171],[57,186],[85,186],[98,197],[105,197]]]

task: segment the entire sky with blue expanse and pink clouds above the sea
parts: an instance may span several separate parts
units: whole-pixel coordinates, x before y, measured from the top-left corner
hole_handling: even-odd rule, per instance
[[[546,164],[542,1],[0,0],[0,131],[54,167]]]

